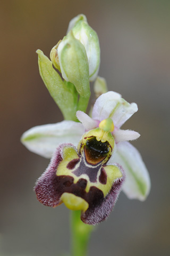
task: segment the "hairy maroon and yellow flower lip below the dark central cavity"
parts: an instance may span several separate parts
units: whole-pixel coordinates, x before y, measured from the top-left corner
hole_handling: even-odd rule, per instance
[[[67,166],[67,162],[72,159],[72,155],[73,158],[79,157],[78,155],[76,156],[78,154],[76,152],[75,147],[69,143],[60,145],[56,149],[47,170],[36,182],[35,191],[37,199],[46,206],[56,207],[62,203],[62,195],[65,193],[63,199],[67,207],[72,210],[82,210],[81,220],[89,225],[96,225],[105,220],[109,213],[111,213],[124,182],[124,171],[118,165],[104,165],[104,169],[109,174],[105,174],[107,177],[106,182],[103,182],[104,178],[98,181],[88,181],[87,175],[89,174],[85,174],[87,173],[86,170],[84,170],[84,174],[77,177],[74,174],[74,168],[72,172],[70,169],[64,169],[64,166]],[[82,156],[80,159],[83,159]],[[114,170],[115,174],[113,174]],[[68,175],[67,173],[70,174]],[[112,180],[112,176],[115,177],[114,180]],[[75,178],[77,181],[74,183]],[[87,183],[82,183],[86,179]],[[67,193],[71,193],[72,196]],[[81,198],[82,200],[80,200]]]

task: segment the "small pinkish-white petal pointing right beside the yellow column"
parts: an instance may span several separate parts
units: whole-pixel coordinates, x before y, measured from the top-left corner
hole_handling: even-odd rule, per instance
[[[140,137],[140,134],[131,130],[115,129],[113,131],[113,136],[116,143],[118,143],[120,141],[136,140]]]

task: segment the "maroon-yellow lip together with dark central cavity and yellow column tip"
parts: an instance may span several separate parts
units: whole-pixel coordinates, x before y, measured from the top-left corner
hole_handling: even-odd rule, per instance
[[[115,150],[113,127],[108,118],[83,134],[78,149],[61,144],[36,183],[37,199],[46,206],[64,203],[70,210],[81,210],[81,220],[89,225],[105,220],[125,177],[121,166],[106,164]]]

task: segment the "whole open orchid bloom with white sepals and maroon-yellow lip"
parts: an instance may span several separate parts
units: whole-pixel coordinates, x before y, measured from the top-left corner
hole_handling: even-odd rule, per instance
[[[135,103],[110,91],[96,100],[92,117],[77,111],[80,123],[62,121],[25,132],[21,140],[29,150],[53,156],[36,183],[38,200],[81,210],[82,221],[91,225],[108,217],[121,188],[129,198],[143,201],[150,190],[149,174],[128,142],[140,134],[120,129],[137,110]]]

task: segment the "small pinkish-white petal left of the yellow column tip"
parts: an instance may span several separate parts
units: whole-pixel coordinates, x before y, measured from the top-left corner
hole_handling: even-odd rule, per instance
[[[76,113],[77,118],[79,121],[82,123],[86,131],[95,129],[98,125],[94,119],[92,119],[90,116],[88,116],[86,113],[83,111],[77,111]]]

